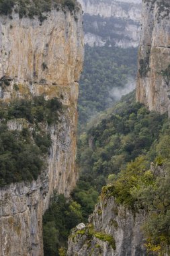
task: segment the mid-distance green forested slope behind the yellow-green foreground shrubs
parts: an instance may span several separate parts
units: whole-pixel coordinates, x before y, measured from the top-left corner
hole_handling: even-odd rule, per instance
[[[146,155],[166,120],[165,116],[136,103],[134,92],[103,116],[78,141],[77,164],[81,175],[73,198],[82,205],[85,217],[91,213],[108,175],[117,174],[128,162]],[[148,158],[152,161],[155,157],[155,151],[151,150]]]

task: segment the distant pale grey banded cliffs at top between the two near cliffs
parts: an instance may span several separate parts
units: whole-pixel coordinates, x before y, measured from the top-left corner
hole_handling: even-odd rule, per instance
[[[140,38],[140,0],[79,0],[83,15],[85,43],[89,46],[138,46]]]

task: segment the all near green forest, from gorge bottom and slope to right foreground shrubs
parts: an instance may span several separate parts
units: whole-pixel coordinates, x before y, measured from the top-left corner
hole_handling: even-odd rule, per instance
[[[105,115],[98,117],[97,123],[79,137],[77,165],[80,179],[77,187],[69,201],[65,201],[63,197],[61,200],[60,195],[55,195],[57,200],[60,198],[60,203],[54,204],[52,201],[44,216],[44,239],[49,221],[52,221],[55,232],[62,234],[57,242],[53,241],[54,236],[48,239],[50,244],[56,245],[55,253],[59,247],[61,253],[65,251],[67,243],[64,241],[67,239],[63,237],[67,238],[71,227],[82,221],[87,222],[100,193],[101,197],[114,195],[118,204],[124,204],[134,212],[139,209],[148,212],[148,218],[142,227],[148,249],[160,250],[162,245],[165,247],[169,243],[169,232],[165,227],[169,225],[170,210],[167,162],[170,154],[170,123],[167,115],[150,112],[142,104],[136,103],[134,94],[135,92],[131,92],[114,107],[106,110]],[[164,166],[166,163],[167,176],[154,175],[150,171],[151,162],[157,166]],[[166,195],[165,199],[163,195]],[[71,208],[71,205],[74,207]],[[60,214],[65,224],[72,216],[70,223],[73,226],[58,226]],[[155,226],[158,220],[160,226]],[[62,255],[61,253],[54,254],[50,245],[46,247],[45,255]]]

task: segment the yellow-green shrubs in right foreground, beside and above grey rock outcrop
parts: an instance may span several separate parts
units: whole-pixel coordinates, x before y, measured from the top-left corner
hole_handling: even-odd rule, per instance
[[[155,141],[151,152],[155,151],[154,168],[149,170],[151,152],[140,156],[127,165],[113,183],[103,187],[101,197],[115,197],[118,204],[129,207],[134,212],[145,210],[146,220],[142,232],[146,238],[148,251],[163,255],[170,245],[170,151],[169,121]],[[161,164],[161,165],[160,165]]]

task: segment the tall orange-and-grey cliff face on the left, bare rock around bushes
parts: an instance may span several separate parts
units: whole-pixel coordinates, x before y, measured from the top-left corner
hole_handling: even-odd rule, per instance
[[[0,17],[1,100],[44,94],[62,99],[64,113],[50,132],[52,147],[37,181],[0,188],[0,255],[42,256],[42,215],[54,189],[69,195],[77,181],[75,170],[78,82],[83,63],[82,11],[52,10],[42,24],[38,18]],[[17,91],[15,86],[17,85]],[[22,121],[9,121],[21,129]]]

